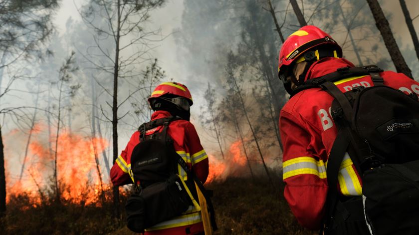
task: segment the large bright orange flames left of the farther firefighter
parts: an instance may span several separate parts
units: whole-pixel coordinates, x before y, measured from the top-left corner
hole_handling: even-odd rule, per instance
[[[6,173],[7,201],[10,195],[25,193],[33,198],[35,203],[39,203],[42,190],[53,185],[54,180],[47,179],[52,179],[54,173],[55,141],[50,144],[42,141],[42,138],[37,138],[42,134],[40,131],[42,126],[35,125],[32,130],[34,138],[29,145],[27,167],[24,170],[25,177],[20,181],[12,179],[10,168],[6,168],[8,171]],[[54,137],[50,140],[54,140]],[[107,146],[108,143],[104,139],[84,137],[65,130],[60,133],[57,148],[57,180],[62,199],[84,204],[97,201],[102,186],[96,168],[95,155],[99,156],[98,154]],[[20,166],[12,169],[13,175],[17,175],[14,172],[16,169],[20,172]]]

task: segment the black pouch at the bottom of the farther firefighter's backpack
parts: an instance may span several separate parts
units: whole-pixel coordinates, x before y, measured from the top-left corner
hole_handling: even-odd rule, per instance
[[[125,206],[127,227],[142,233],[144,229],[180,216],[191,205],[191,196],[184,182],[178,175],[173,175],[167,181],[152,184],[128,199]]]

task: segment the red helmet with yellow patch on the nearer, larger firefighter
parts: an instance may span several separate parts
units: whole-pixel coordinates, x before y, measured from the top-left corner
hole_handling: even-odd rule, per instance
[[[290,65],[304,52],[325,44],[329,44],[332,49],[336,50],[335,57],[342,57],[342,48],[329,34],[313,25],[301,27],[288,36],[279,51],[278,74],[281,68]]]

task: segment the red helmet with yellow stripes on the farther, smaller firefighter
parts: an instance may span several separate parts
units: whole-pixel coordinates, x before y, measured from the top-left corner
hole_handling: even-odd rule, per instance
[[[164,97],[165,95],[171,95],[175,97]],[[178,82],[163,82],[158,85],[151,96],[148,98],[148,102],[151,103],[153,98],[161,98],[168,100],[179,107],[183,108],[184,110],[189,110],[189,106],[191,106],[194,102],[192,101],[191,92],[189,92],[188,87],[185,85],[178,83]],[[183,97],[183,98],[179,98]]]

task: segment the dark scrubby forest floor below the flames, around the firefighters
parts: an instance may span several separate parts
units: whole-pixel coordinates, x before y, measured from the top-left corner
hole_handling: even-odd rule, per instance
[[[315,235],[298,225],[283,198],[283,183],[279,176],[272,184],[266,178],[228,178],[212,182],[218,231],[214,235]],[[112,219],[111,192],[106,202],[98,206],[83,206],[68,202],[57,205],[43,203],[36,207],[24,195],[12,197],[2,220],[1,234],[19,235],[134,235],[126,228],[121,196],[122,222]]]

